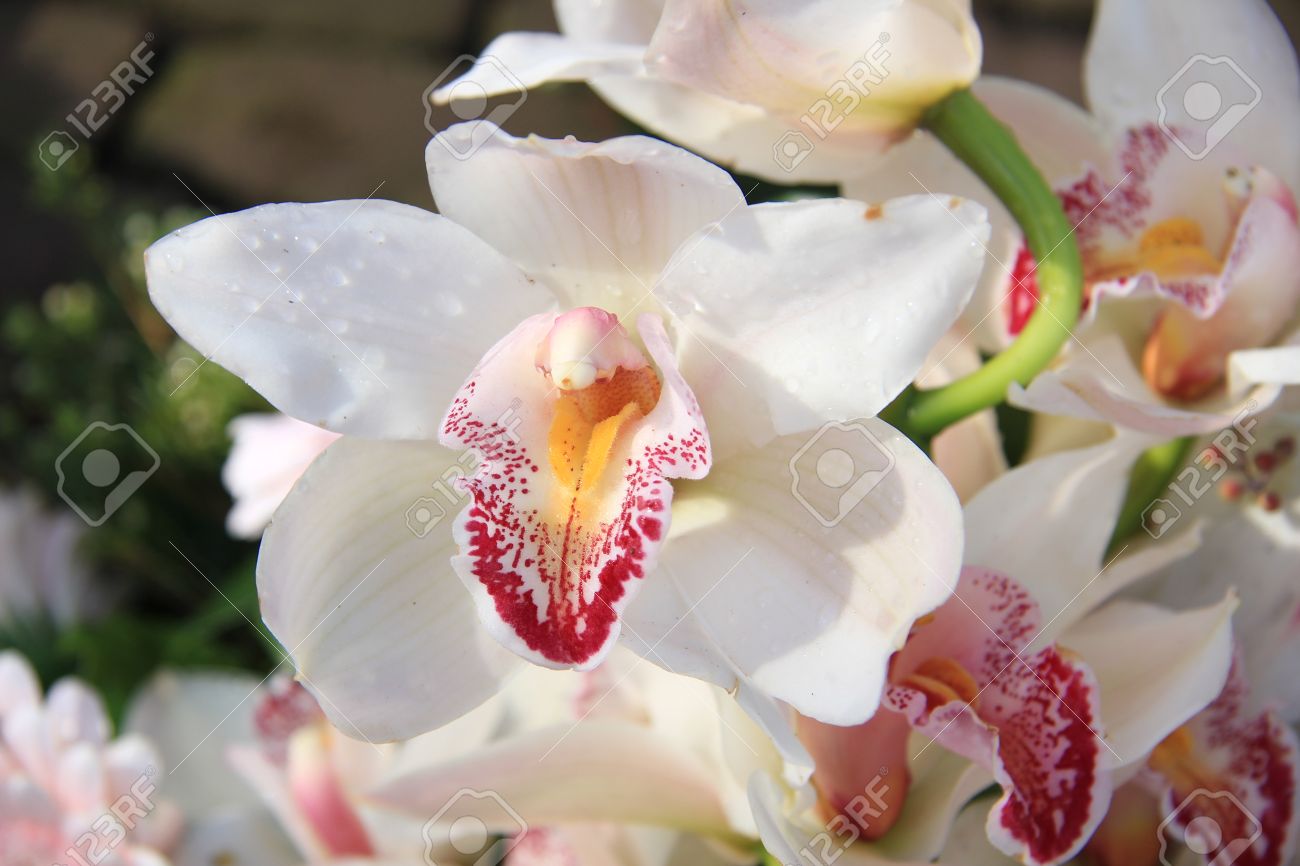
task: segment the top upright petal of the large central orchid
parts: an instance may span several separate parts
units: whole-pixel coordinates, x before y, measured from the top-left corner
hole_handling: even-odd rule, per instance
[[[439,133],[425,160],[443,215],[550,285],[564,307],[619,316],[647,299],[682,241],[745,203],[718,166],[641,135],[520,139],[477,121]]]

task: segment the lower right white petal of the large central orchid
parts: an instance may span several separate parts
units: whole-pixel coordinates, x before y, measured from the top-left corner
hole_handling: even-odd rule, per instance
[[[818,456],[849,449],[857,479],[827,488]],[[889,655],[956,584],[957,508],[939,469],[883,421],[776,440],[679,495],[663,567],[629,606],[624,642],[671,671],[727,689],[748,681],[803,715],[861,723]]]

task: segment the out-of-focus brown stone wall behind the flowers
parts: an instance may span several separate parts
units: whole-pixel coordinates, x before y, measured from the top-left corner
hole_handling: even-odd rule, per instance
[[[1300,3],[1277,5],[1295,33]],[[976,3],[985,70],[1079,99],[1091,8]],[[370,194],[426,205],[424,88],[494,34],[554,18],[547,0],[47,0],[5,4],[0,26],[8,151],[29,155],[148,39],[157,74],[95,135],[108,170],[174,170],[214,207]],[[455,120],[439,109],[433,124]],[[588,139],[629,129],[577,85],[530,94],[507,127]]]

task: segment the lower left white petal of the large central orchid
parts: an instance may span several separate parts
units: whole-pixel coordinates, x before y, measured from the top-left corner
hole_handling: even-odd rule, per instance
[[[298,484],[257,562],[263,619],[330,720],[408,739],[494,694],[514,657],[484,632],[451,570],[441,446],[344,437]]]

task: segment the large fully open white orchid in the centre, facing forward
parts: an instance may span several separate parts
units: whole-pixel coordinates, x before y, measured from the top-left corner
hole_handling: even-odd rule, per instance
[[[410,737],[517,657],[590,668],[621,636],[759,715],[870,716],[961,544],[949,485],[871,416],[967,299],[983,211],[750,207],[637,137],[463,124],[426,156],[441,216],[265,205],[147,255],[182,337],[343,434],[259,560],[263,615],[325,713]],[[790,466],[848,419],[893,468],[827,527]],[[467,505],[437,498],[445,479]]]

